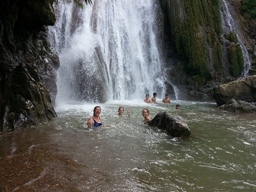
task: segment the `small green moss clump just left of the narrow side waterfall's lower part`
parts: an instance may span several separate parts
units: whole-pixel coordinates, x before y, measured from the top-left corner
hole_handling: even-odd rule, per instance
[[[239,44],[230,44],[229,61],[232,66],[233,77],[241,76],[244,67],[244,56]]]

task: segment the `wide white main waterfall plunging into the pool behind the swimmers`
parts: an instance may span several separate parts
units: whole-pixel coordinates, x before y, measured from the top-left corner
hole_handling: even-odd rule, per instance
[[[85,9],[56,4],[57,21],[48,36],[60,59],[57,100],[163,96],[164,27],[157,2],[94,0]]]

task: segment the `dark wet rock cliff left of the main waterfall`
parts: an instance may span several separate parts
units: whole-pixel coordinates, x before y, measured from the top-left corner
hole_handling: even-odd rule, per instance
[[[56,117],[51,98],[58,55],[44,25],[53,25],[51,0],[0,1],[0,131]]]

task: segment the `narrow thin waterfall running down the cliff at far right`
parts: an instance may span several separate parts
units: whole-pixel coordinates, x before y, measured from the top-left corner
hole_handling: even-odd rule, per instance
[[[244,56],[244,70],[242,72],[241,78],[245,78],[249,74],[249,69],[251,67],[251,60],[246,47],[241,41],[241,38],[239,36],[239,34],[241,34],[239,31],[239,25],[238,23],[236,23],[236,21],[233,19],[231,15],[230,4],[227,2],[227,0],[221,0],[221,19],[222,19],[222,28],[224,33],[228,33],[231,31],[236,33],[238,42],[241,46],[243,56]]]

